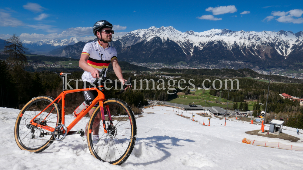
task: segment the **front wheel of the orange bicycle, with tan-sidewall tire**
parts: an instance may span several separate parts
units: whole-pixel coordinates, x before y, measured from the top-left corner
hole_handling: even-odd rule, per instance
[[[123,162],[126,161],[126,159],[129,157],[129,155],[132,153],[132,150],[135,146],[135,141],[136,141],[136,137],[137,137],[137,126],[136,126],[136,121],[135,121],[135,115],[132,112],[132,109],[122,100],[115,99],[115,98],[107,99],[103,102],[104,113],[106,114],[105,121],[107,123],[107,129],[109,129],[108,124],[110,124],[109,119],[107,117],[107,111],[106,111],[107,105],[109,107],[109,110],[112,115],[112,120],[113,120],[113,125],[111,125],[110,127],[111,127],[111,129],[114,129],[114,130],[111,133],[109,133],[109,131],[108,131],[106,136],[104,136],[105,133],[104,133],[104,128],[103,128],[102,118],[101,118],[101,120],[96,119],[96,117],[100,111],[100,106],[98,106],[95,109],[95,111],[93,112],[93,114],[89,120],[89,123],[88,123],[88,132],[89,132],[87,134],[88,148],[89,148],[91,154],[93,156],[95,156],[95,158],[97,158],[103,162],[109,162],[110,164],[113,164],[113,165],[121,165]],[[125,114],[125,115],[122,116],[122,114]],[[95,120],[97,120],[97,122],[100,121],[99,124],[101,124],[101,126],[99,127],[100,131],[98,133],[99,138],[100,138],[98,143],[94,143],[95,141],[93,141],[93,139],[92,139],[93,131],[96,129],[96,128],[93,128],[93,124],[94,124],[93,122],[95,122]],[[118,127],[120,127],[120,128],[118,128]],[[100,135],[102,135],[102,136],[100,137]],[[126,137],[124,137],[124,136],[126,136]],[[104,138],[104,137],[106,137],[106,138]],[[124,138],[122,139],[120,137],[124,137]],[[104,143],[104,146],[103,146],[103,143]],[[102,154],[104,151],[104,148],[106,148],[105,143],[107,143],[106,155]],[[102,149],[102,153],[100,154],[99,151],[101,150],[102,146],[103,146],[103,149]],[[111,158],[110,154],[112,154],[112,158]],[[113,155],[114,155],[114,157],[113,157]],[[109,159],[108,159],[108,157],[109,157]]]

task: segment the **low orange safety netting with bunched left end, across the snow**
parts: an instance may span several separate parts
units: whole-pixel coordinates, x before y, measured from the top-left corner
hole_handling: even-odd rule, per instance
[[[293,146],[293,145],[286,145],[286,144],[283,144],[283,143],[280,143],[280,142],[248,140],[248,139],[244,138],[242,140],[242,143],[247,143],[247,144],[257,145],[257,146],[266,146],[266,147],[272,147],[272,148],[280,148],[280,149],[286,149],[286,150],[303,151],[303,147]]]

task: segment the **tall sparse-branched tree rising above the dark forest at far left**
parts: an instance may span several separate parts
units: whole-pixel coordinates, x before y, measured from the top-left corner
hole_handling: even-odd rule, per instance
[[[26,56],[24,55],[25,50],[28,48],[23,47],[20,39],[16,34],[11,38],[6,40],[6,46],[4,46],[4,53],[8,53],[9,57],[7,59],[8,63],[15,66],[24,67],[28,62]]]

